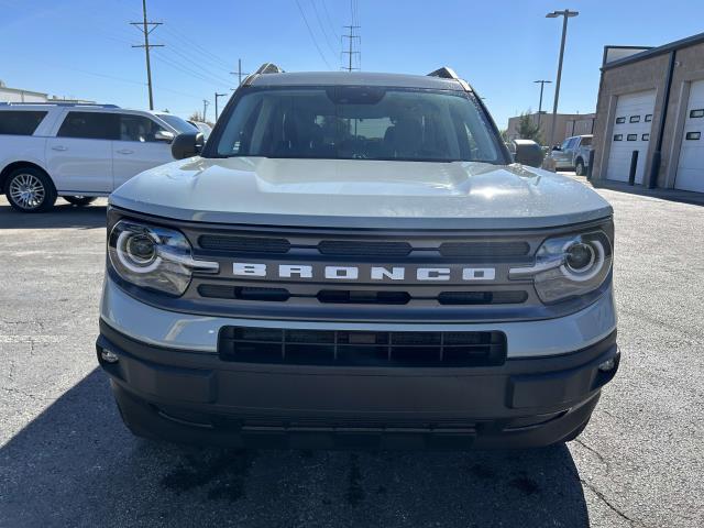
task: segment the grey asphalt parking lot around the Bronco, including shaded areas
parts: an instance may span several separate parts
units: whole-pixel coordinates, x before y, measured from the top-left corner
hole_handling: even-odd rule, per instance
[[[578,441],[470,453],[134,439],[95,358],[105,200],[26,216],[0,197],[0,527],[704,526],[704,208],[600,193],[620,372]]]

